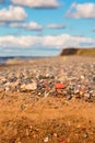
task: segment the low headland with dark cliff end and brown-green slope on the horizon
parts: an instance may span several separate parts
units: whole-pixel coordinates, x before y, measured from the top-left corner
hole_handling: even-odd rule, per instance
[[[79,56],[95,56],[95,47],[93,48],[63,48],[60,56],[79,55]]]

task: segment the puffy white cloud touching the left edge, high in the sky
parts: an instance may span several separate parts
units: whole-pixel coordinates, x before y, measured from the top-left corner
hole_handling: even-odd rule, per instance
[[[26,12],[21,7],[10,6],[9,9],[3,8],[0,10],[0,22],[24,21],[26,16]]]

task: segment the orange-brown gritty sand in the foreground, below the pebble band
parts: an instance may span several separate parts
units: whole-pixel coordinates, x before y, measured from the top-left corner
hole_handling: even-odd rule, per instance
[[[95,143],[95,103],[0,94],[0,143]]]

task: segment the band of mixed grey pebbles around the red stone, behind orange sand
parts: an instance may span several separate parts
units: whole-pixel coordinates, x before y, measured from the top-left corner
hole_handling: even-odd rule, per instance
[[[39,66],[40,65],[40,66]],[[0,92],[31,91],[38,97],[61,95],[91,100],[95,97],[95,61],[73,57],[64,61],[39,61],[33,65],[21,65],[0,72]],[[84,98],[83,98],[84,97]]]

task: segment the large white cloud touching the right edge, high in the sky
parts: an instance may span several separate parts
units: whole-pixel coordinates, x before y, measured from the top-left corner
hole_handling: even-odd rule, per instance
[[[72,3],[67,15],[74,19],[95,19],[95,3]]]

